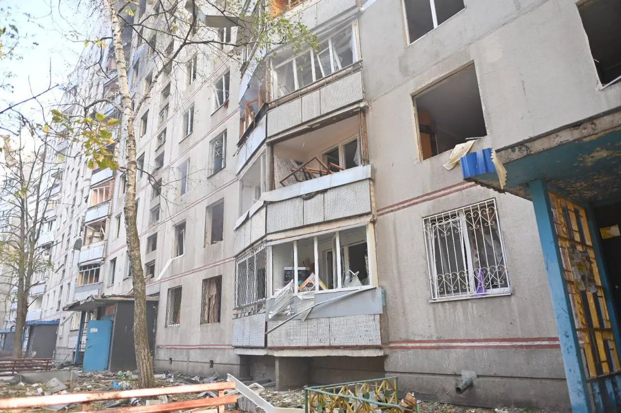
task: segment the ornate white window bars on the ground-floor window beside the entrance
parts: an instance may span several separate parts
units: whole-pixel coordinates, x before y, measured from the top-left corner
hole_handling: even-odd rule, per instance
[[[434,300],[510,293],[496,200],[423,220]]]

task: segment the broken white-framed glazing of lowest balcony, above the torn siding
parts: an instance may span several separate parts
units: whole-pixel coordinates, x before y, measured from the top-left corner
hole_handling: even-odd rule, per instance
[[[274,291],[294,280],[295,293],[370,284],[366,226],[283,242],[271,248]]]

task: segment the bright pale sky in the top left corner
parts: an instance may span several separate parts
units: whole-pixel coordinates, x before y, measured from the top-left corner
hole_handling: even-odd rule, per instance
[[[78,0],[0,0],[19,29],[18,59],[2,60],[0,76],[11,71],[12,91],[0,90],[0,110],[7,105],[45,91],[50,85],[65,84],[84,48],[85,33],[93,27],[88,16],[77,12]],[[82,7],[83,8],[83,7]],[[0,27],[6,25],[0,16]],[[60,99],[60,88],[43,95],[47,112]],[[34,103],[21,105],[29,116],[42,119]],[[0,122],[2,119],[0,118]]]

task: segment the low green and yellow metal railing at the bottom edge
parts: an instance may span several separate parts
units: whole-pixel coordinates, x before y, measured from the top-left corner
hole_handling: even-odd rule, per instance
[[[306,413],[403,413],[397,378],[382,377],[306,388]]]

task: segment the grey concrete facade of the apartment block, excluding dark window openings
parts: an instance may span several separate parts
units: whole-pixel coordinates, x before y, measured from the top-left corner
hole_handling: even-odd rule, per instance
[[[313,69],[314,81],[304,87],[297,87],[302,82],[297,78],[289,89],[283,86],[288,80],[284,69],[261,78],[252,64],[240,67],[218,50],[201,48],[196,50],[196,79],[189,82],[185,64],[178,64],[158,82],[137,116],[148,119],[137,154],[153,179],[163,182],[158,195],[147,174],[137,184],[143,264],[155,265],[147,293],[159,296],[156,368],[270,378],[279,388],[396,375],[402,390],[422,399],[568,409],[532,205],[463,181],[459,167],[446,170],[449,151],[428,156],[419,131],[423,110],[415,102],[468,69],[475,75],[485,129],[471,136],[480,136],[473,150],[500,149],[615,109],[621,84],[602,88],[574,1],[465,0],[463,9],[441,24],[434,22],[435,29],[412,43],[407,4],[307,0],[288,11],[289,17],[308,24],[320,43],[337,44],[338,35],[347,30],[353,39],[348,43],[353,45],[351,62],[323,79]],[[233,37],[237,33],[233,29]],[[156,63],[145,55],[145,47],[137,46],[135,36],[127,45],[130,67],[139,63],[138,75],[131,79],[138,90]],[[272,66],[286,64],[279,59],[288,53],[286,47],[277,50]],[[188,51],[180,60],[192,57]],[[227,71],[229,101],[216,107],[214,84]],[[169,81],[170,94],[163,96]],[[266,106],[256,108],[256,117],[242,125],[240,136],[246,104],[259,95]],[[168,112],[160,120],[166,104]],[[186,134],[184,116],[190,108],[193,128]],[[162,142],[158,136],[163,131]],[[225,165],[214,172],[213,144],[222,133]],[[346,148],[352,142],[355,155]],[[333,161],[335,148],[336,162],[344,162],[345,171],[303,182],[288,177],[315,156]],[[355,165],[347,165],[348,154]],[[78,174],[76,179],[86,179],[72,168],[69,173]],[[116,173],[105,179],[114,182],[114,190],[97,259],[102,264],[96,290],[127,294],[132,282],[124,230],[118,226],[123,223],[122,177]],[[68,182],[73,187],[74,180]],[[93,185],[92,179],[84,185]],[[71,198],[73,189],[66,190],[63,197]],[[214,206],[222,200],[222,239],[214,240]],[[430,257],[426,223],[446,211],[489,200],[494,202],[508,282],[499,293],[438,297],[431,273],[437,263]],[[151,211],[158,205],[153,220]],[[91,210],[76,208],[76,216],[78,211],[83,216]],[[63,215],[58,220],[57,236],[70,229],[68,219]],[[152,249],[148,244],[154,237]],[[356,246],[364,246],[364,252],[356,255]],[[55,259],[62,259],[65,250],[55,252]],[[362,258],[358,264],[356,256]],[[297,294],[292,313],[302,313],[309,302],[317,310],[279,326],[289,314],[271,314],[274,295],[289,282],[289,268],[297,279],[309,277],[311,267],[319,269],[314,281],[335,291],[316,286],[314,292]],[[336,275],[345,268],[364,273],[364,285],[345,284],[353,278]],[[330,271],[333,277],[327,275]],[[205,286],[220,276],[219,317],[207,322]],[[61,280],[48,281],[46,290],[58,289]],[[71,294],[72,282],[66,287]],[[336,299],[352,291],[356,293]],[[325,303],[329,297],[335,300]],[[50,307],[53,300],[46,300],[44,318],[58,318]],[[171,309],[176,306],[178,311]],[[66,358],[76,339],[71,341],[67,331],[71,323],[63,324],[62,315],[60,319],[57,358]],[[463,370],[475,371],[478,379],[458,395],[455,385]]]

